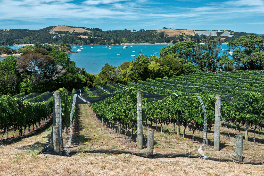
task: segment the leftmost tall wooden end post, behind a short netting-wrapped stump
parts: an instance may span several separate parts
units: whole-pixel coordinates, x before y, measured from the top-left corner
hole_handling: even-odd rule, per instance
[[[63,137],[62,137],[62,113],[60,108],[60,92],[54,92],[56,125],[60,126],[60,150],[63,150]]]

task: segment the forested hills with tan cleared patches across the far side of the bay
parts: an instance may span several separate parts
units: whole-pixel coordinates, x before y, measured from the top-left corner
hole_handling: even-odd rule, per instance
[[[197,32],[197,31],[196,31]],[[49,26],[40,30],[29,29],[2,29],[0,30],[0,45],[35,44],[36,42],[54,44],[64,43],[72,45],[99,44],[107,45],[121,43],[172,43],[191,40],[196,43],[204,42],[210,31],[201,31],[198,35],[194,30],[159,29],[159,30],[114,30],[103,31],[99,28]],[[207,32],[207,33],[206,33]],[[214,31],[215,32],[215,31]],[[221,36],[224,32],[230,32],[229,36]],[[203,35],[205,34],[205,35]],[[237,37],[248,35],[246,32],[217,31],[216,36],[224,42],[235,40]],[[264,36],[261,36],[264,38]]]

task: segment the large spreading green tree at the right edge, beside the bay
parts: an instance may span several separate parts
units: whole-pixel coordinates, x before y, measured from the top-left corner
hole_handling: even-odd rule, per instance
[[[227,44],[227,53],[233,51],[231,57],[235,68],[240,70],[263,69],[264,39],[260,36],[249,34],[239,37]]]

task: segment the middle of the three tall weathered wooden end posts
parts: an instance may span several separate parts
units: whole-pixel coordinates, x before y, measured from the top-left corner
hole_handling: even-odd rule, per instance
[[[136,92],[136,126],[138,133],[138,149],[143,149],[143,126],[142,126],[142,92]]]

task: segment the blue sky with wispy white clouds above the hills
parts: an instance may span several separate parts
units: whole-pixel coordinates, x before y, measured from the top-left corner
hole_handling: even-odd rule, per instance
[[[0,0],[0,29],[58,25],[264,34],[264,0]]]

